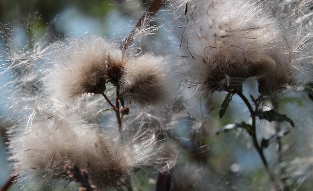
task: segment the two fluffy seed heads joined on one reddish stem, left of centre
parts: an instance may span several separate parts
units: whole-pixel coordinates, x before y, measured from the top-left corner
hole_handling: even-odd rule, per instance
[[[123,56],[116,44],[89,36],[55,43],[51,55],[46,88],[59,99],[102,94],[109,82],[124,98],[141,105],[166,101],[170,95],[166,62],[151,53]]]

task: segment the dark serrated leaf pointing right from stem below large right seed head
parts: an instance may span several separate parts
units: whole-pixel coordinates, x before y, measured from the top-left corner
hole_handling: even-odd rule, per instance
[[[294,127],[294,122],[291,120],[291,118],[287,117],[287,115],[280,114],[280,113],[276,112],[275,110],[269,110],[269,111],[265,111],[265,112],[258,110],[256,112],[256,116],[258,116],[260,119],[266,119],[269,122],[271,122],[271,121],[278,121],[278,122],[287,121],[290,123],[290,125],[292,127]]]

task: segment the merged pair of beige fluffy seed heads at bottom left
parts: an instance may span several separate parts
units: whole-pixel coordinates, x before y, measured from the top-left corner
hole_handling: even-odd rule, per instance
[[[99,125],[75,115],[34,110],[18,128],[10,134],[10,160],[19,183],[34,188],[67,179],[64,165],[73,161],[88,169],[98,187],[119,187],[134,168],[151,166],[156,152],[153,134],[137,134],[122,143],[118,135],[102,135]]]

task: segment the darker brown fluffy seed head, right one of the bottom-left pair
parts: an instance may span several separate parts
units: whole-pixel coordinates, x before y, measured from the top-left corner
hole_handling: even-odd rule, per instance
[[[118,188],[134,168],[153,164],[155,148],[155,136],[141,135],[123,144],[119,138],[98,134],[85,153],[90,179],[98,187]]]

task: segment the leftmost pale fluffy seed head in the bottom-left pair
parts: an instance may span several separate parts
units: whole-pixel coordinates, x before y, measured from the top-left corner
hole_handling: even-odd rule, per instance
[[[58,116],[34,110],[28,120],[10,134],[10,160],[18,183],[46,186],[54,179],[66,179],[66,163],[84,161],[83,151],[92,141],[91,128],[75,116]],[[27,189],[27,187],[26,187]]]

